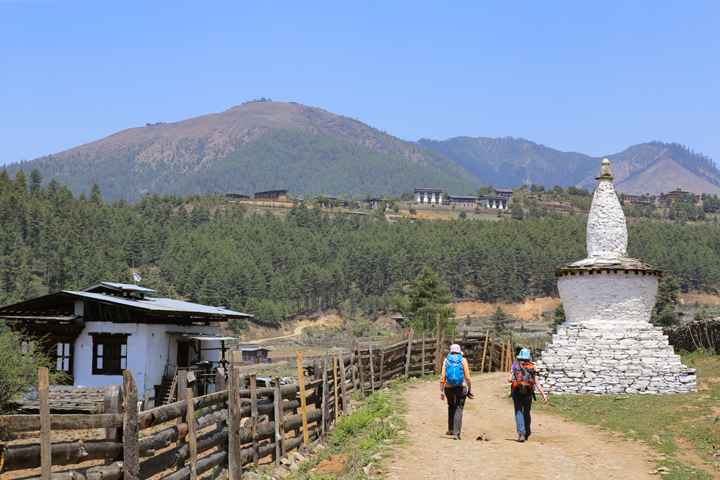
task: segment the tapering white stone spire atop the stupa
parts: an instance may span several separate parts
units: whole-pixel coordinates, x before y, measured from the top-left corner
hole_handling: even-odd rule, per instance
[[[587,243],[589,258],[625,258],[628,229],[625,214],[613,188],[610,160],[603,158],[600,176],[595,178],[593,205],[588,215]]]

